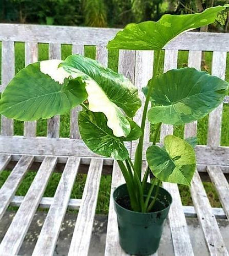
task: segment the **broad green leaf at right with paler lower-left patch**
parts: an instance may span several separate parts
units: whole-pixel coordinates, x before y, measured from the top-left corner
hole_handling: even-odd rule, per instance
[[[151,123],[183,124],[206,116],[222,102],[228,83],[194,68],[172,69],[149,81],[154,86]],[[145,88],[144,93],[147,93]]]

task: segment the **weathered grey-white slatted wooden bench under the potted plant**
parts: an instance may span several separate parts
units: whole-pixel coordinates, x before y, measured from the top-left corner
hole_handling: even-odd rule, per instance
[[[106,44],[117,31],[117,29],[0,24],[0,41],[2,41],[0,92],[14,76],[14,42],[25,42],[25,65],[37,61],[37,43],[48,43],[51,59],[61,58],[61,44],[72,45],[72,52],[81,55],[84,54],[85,45],[94,45],[97,61],[107,66]],[[228,34],[186,32],[165,48],[164,70],[177,67],[178,50],[189,51],[188,66],[197,69],[201,66],[201,51],[213,51],[211,73],[225,79],[228,41]],[[140,91],[141,86],[145,86],[151,77],[153,58],[154,52],[152,51],[119,51],[119,73],[126,75]],[[225,97],[224,104],[228,103],[229,98]],[[171,192],[173,197],[168,219],[175,256],[194,255],[186,221],[187,216],[198,217],[209,255],[229,255],[216,220],[216,217],[229,219],[229,185],[225,177],[225,173],[229,170],[229,147],[220,146],[222,108],[222,105],[219,106],[209,115],[207,145],[198,145],[196,148],[198,171],[195,172],[190,188],[194,206],[182,206],[176,184],[163,184],[163,187]],[[0,244],[0,256],[18,255],[39,206],[49,208],[49,210],[32,256],[53,255],[67,208],[79,209],[67,255],[88,255],[102,170],[106,166],[113,166],[111,192],[123,183],[123,178],[116,162],[95,155],[80,140],[77,126],[79,109],[76,107],[70,113],[69,138],[59,138],[59,116],[47,120],[47,137],[36,137],[36,122],[25,122],[24,136],[15,136],[14,121],[4,116],[1,117],[0,173],[2,170],[11,168],[12,162],[14,164],[17,162],[17,164],[13,165],[12,172],[0,189],[0,219],[9,205],[20,207]],[[138,123],[140,115],[141,111],[135,117]],[[147,124],[147,131],[145,145],[149,144],[149,124]],[[163,125],[161,140],[166,134],[172,133],[172,126]],[[196,134],[196,122],[185,126],[185,137]],[[128,143],[127,146],[133,157],[136,143]],[[89,165],[83,198],[70,199],[80,164]],[[34,170],[37,165],[40,167],[28,193],[25,197],[15,196],[26,172],[29,169]],[[56,193],[53,198],[44,198],[42,196],[48,179],[58,166],[64,166],[64,170]],[[211,208],[200,174],[208,174],[214,183],[219,193],[222,209]],[[118,244],[116,214],[112,197],[106,241],[106,256],[126,255]]]

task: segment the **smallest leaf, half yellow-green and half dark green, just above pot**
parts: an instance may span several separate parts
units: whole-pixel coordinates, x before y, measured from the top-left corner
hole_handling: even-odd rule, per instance
[[[185,140],[168,135],[164,139],[164,149],[150,146],[146,159],[160,181],[189,186],[195,172],[195,151]]]

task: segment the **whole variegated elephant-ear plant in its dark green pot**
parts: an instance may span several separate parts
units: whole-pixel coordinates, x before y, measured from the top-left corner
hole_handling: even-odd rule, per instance
[[[190,186],[195,171],[193,140],[168,135],[160,148],[156,138],[161,124],[202,118],[221,104],[228,91],[226,81],[194,68],[159,74],[161,50],[183,31],[214,22],[223,9],[218,6],[203,13],[163,15],[157,22],[129,24],[108,43],[108,48],[155,51],[153,75],[143,90],[141,127],[132,120],[141,106],[134,85],[123,75],[80,55],[30,64],[15,75],[2,94],[0,113],[21,121],[50,118],[77,105],[83,107],[79,112],[81,138],[96,154],[117,160],[126,181],[116,188],[113,198],[119,242],[127,253],[148,255],[157,250],[172,202],[160,182]],[[148,167],[141,178],[146,117],[156,129],[146,150]],[[134,161],[124,144],[132,140],[138,140]],[[154,178],[148,183],[150,172]]]

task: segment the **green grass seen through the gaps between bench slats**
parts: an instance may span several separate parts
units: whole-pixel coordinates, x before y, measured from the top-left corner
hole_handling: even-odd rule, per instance
[[[15,73],[19,72],[25,66],[24,58],[24,43],[15,43]],[[72,52],[72,46],[62,45],[62,59],[65,59]],[[95,59],[95,47],[86,46],[85,47],[85,56]],[[39,61],[48,59],[48,45],[45,43],[39,43]],[[211,59],[212,52],[205,53],[205,65],[202,67],[202,70],[206,70],[209,73],[211,72]],[[179,51],[178,54],[178,67],[187,67],[188,62],[188,52]],[[0,64],[1,64],[1,43],[0,43]],[[118,51],[109,51],[108,52],[108,67],[113,70],[118,70]],[[161,58],[160,70],[163,71],[163,58]],[[1,80],[1,74],[0,74]],[[226,70],[226,80],[229,81],[229,54],[227,54],[227,70]],[[1,83],[0,83],[1,84]],[[229,146],[229,106],[223,106],[223,116],[222,116],[222,136],[221,136],[221,145]],[[1,122],[1,121],[0,121]],[[46,136],[47,121],[39,120],[37,122],[37,135]],[[151,126],[151,135],[154,130],[154,126]],[[23,122],[15,121],[14,122],[14,131],[15,135],[23,135]],[[206,134],[208,132],[208,116],[198,121],[198,144],[206,144]],[[183,137],[184,126],[175,126],[174,134],[178,137]],[[61,127],[60,127],[60,136],[69,137],[69,114],[61,116]],[[151,136],[152,137],[152,136]],[[152,138],[151,138],[152,139]],[[6,178],[9,175],[9,171],[3,171],[0,175],[0,187],[6,181]],[[28,172],[25,176],[24,181],[21,183],[19,189],[17,190],[17,195],[25,195],[32,180],[35,177],[35,172]],[[53,197],[54,192],[57,188],[58,181],[61,175],[59,173],[53,173],[50,182],[48,183],[47,189],[45,191],[45,197]],[[85,184],[86,175],[78,175],[77,181],[74,184],[72,191],[72,198],[81,198],[83,193],[83,188]],[[96,213],[98,214],[107,214],[108,212],[108,201],[110,199],[110,186],[111,186],[111,176],[104,175],[101,178],[99,199],[97,203]],[[204,182],[204,187],[210,199],[210,203],[214,207],[220,207],[220,201],[217,196],[217,193],[214,189],[214,186],[210,182]],[[189,188],[185,186],[179,186],[179,190],[182,195],[182,203],[184,205],[192,205],[192,199],[190,197]]]

